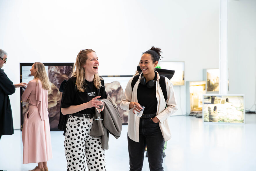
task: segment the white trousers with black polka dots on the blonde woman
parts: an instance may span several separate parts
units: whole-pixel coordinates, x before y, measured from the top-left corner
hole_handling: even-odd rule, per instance
[[[69,117],[64,141],[68,171],[106,171],[101,137],[91,137],[94,119]],[[86,164],[85,164],[86,163]]]

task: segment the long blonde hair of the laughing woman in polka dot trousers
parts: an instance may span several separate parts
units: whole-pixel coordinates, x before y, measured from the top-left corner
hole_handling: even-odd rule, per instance
[[[76,63],[73,66],[72,76],[77,77],[76,87],[77,87],[77,90],[80,92],[84,92],[84,90],[86,89],[84,87],[85,70],[83,68],[83,65],[86,64],[86,60],[88,59],[87,54],[89,54],[91,52],[95,53],[95,51],[92,49],[81,50],[78,53]],[[99,77],[99,74],[94,74],[93,84],[97,89],[99,89],[102,86],[101,80],[103,80],[103,79],[101,77]]]

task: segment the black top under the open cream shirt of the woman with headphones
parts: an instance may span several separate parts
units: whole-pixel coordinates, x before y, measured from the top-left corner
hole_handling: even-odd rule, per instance
[[[157,73],[155,73],[154,80],[157,79]],[[157,113],[157,96],[156,96],[156,84],[152,88],[148,88],[146,85],[139,83],[137,90],[138,103],[145,106],[143,114]]]

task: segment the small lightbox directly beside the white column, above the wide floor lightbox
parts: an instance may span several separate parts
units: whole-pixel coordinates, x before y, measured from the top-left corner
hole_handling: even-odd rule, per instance
[[[206,92],[218,93],[219,92],[219,69],[203,69],[203,78],[206,81]]]

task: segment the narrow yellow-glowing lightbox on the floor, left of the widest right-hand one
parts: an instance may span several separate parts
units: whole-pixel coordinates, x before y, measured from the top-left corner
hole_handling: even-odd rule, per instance
[[[197,117],[202,116],[205,84],[205,81],[186,82],[186,115]]]

